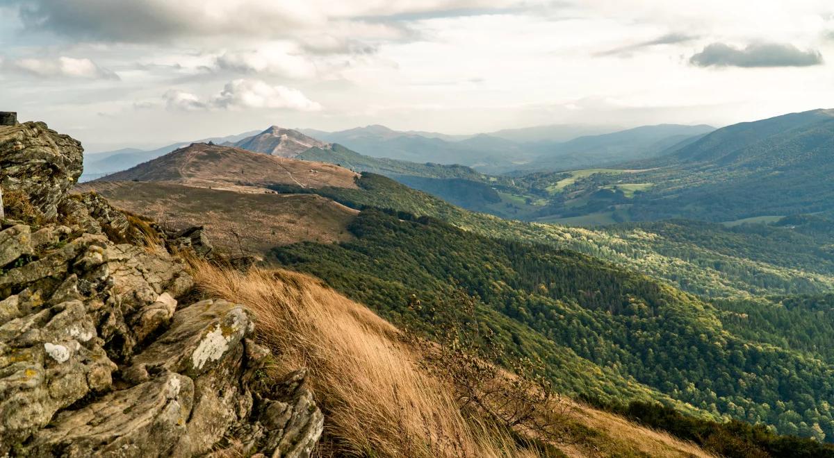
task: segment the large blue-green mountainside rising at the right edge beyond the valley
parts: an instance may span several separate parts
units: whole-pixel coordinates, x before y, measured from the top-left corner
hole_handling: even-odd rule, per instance
[[[666,157],[590,173],[551,192],[540,221],[686,217],[711,222],[834,215],[834,113],[792,113],[723,127]],[[631,169],[636,172],[625,172]]]

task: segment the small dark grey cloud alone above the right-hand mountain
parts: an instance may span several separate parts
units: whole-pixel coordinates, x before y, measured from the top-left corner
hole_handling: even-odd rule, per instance
[[[689,62],[698,67],[808,67],[820,65],[822,55],[783,43],[753,43],[740,49],[715,42],[693,55]]]

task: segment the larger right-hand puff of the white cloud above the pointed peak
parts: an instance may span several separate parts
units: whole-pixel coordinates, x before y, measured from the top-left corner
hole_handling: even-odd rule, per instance
[[[271,86],[267,82],[252,79],[229,82],[212,104],[220,108],[285,108],[300,112],[321,110],[318,102],[309,100],[298,89]]]

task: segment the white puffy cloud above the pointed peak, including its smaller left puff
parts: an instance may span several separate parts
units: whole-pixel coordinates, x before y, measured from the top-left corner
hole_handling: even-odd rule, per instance
[[[172,89],[163,94],[168,110],[240,110],[247,108],[277,108],[299,112],[318,112],[321,105],[313,102],[298,89],[273,86],[257,79],[236,79],[229,82],[218,96],[208,102],[196,94]]]

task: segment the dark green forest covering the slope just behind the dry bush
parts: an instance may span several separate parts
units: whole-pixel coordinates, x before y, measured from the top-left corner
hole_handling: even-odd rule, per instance
[[[407,306],[412,294],[440,304],[460,286],[515,353],[545,361],[555,386],[572,395],[648,396],[708,418],[834,436],[827,401],[834,366],[808,351],[815,344],[799,331],[777,341],[777,315],[758,318],[775,333],[762,340],[750,335],[756,325],[729,323],[729,305],[574,251],[479,236],[428,217],[366,210],[349,230],[355,241],[284,246],[271,256],[399,324],[420,321]],[[589,368],[599,376],[575,376]]]

